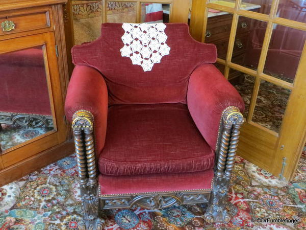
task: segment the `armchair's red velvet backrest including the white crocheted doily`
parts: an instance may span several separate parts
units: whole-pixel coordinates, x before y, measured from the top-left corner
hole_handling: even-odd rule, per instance
[[[72,58],[104,76],[110,105],[186,103],[190,74],[217,52],[194,40],[187,24],[106,23],[97,40],[72,48]]]

